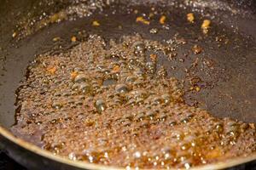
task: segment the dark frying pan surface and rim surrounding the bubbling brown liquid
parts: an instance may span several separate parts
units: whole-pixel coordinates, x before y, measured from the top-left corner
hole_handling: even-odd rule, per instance
[[[0,146],[15,161],[30,169],[118,169],[117,167],[69,161],[60,156],[54,156],[38,146],[15,137],[9,131],[15,123],[15,90],[19,88],[19,82],[25,80],[24,76],[29,62],[34,59],[35,55],[43,54],[56,46],[52,42],[53,37],[64,39],[61,44],[57,45],[58,48],[54,48],[55,53],[76,45],[71,44],[69,38],[81,30],[85,30],[88,34],[100,34],[106,39],[119,38],[137,32],[143,37],[163,41],[167,40],[166,37],[173,37],[178,32],[178,35],[188,42],[187,46],[177,51],[178,54],[187,53],[191,45],[195,42],[199,43],[204,49],[202,57],[212,59],[216,69],[210,71],[208,75],[205,71],[197,71],[197,74],[207,82],[207,88],[196,95],[186,94],[185,102],[188,105],[197,105],[206,109],[214,116],[228,116],[243,122],[256,122],[255,1],[81,1],[79,7],[85,7],[86,10],[84,9],[84,13],[81,12],[83,10],[78,10],[70,14],[73,20],[58,20],[58,23],[48,21],[48,26],[36,24],[48,15],[71,8],[78,2],[80,1],[2,0],[0,2]],[[162,31],[159,34],[152,35],[147,26],[135,23],[135,14],[122,13],[123,9],[133,6],[145,13],[149,6],[160,6],[166,11],[167,16],[170,16],[172,24],[169,28],[160,28]],[[112,15],[109,8],[119,10]],[[183,10],[177,10],[177,8],[183,8]],[[183,14],[191,11],[198,16],[205,16],[212,20],[210,30],[212,33],[203,41],[199,41],[200,26],[189,27],[189,25],[181,24],[185,20]],[[80,17],[73,17],[73,15]],[[85,15],[86,17],[82,17]],[[106,24],[97,30],[93,29],[86,23],[94,19]],[[203,17],[199,20],[203,20]],[[120,23],[123,26],[122,30],[116,27]],[[154,24],[151,27],[154,27]],[[224,37],[218,32],[224,32]],[[224,42],[227,44],[224,45]],[[191,59],[196,58],[193,54],[191,56]],[[186,64],[171,62],[160,59],[160,65],[165,65],[167,70],[170,65],[177,68],[177,71],[169,71],[172,77],[183,78],[181,68],[186,67]],[[247,166],[256,168],[255,161],[256,155],[254,154],[195,167],[195,169],[246,169]]]

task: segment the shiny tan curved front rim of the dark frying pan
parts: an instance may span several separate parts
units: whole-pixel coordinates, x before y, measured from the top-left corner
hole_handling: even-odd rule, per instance
[[[29,142],[26,142],[23,139],[19,139],[15,137],[13,133],[9,132],[9,130],[6,129],[5,127],[2,127],[1,124],[0,124],[0,135],[2,135],[3,138],[9,139],[9,141],[19,145],[23,149],[29,150],[32,153],[37,154],[38,156],[43,156],[45,158],[48,158],[49,160],[58,161],[60,163],[67,164],[72,167],[79,167],[82,169],[106,169],[106,170],[125,169],[121,167],[102,166],[96,163],[87,163],[84,161],[71,161],[62,156],[53,155],[51,152],[47,150],[42,150],[35,144],[31,144]],[[256,161],[256,153],[252,154],[251,156],[237,157],[235,159],[228,159],[226,161],[218,161],[217,163],[207,164],[207,165],[198,166],[198,167],[192,167],[191,170],[224,169],[228,167],[235,167],[237,165],[241,165],[249,161]]]

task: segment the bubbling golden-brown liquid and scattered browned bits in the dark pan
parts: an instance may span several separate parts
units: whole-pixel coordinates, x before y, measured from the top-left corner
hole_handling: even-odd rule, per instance
[[[159,26],[148,29],[153,35],[170,29],[171,17],[156,15]],[[133,22],[150,26],[151,17],[154,12],[137,14]],[[195,20],[184,15],[187,25]],[[97,29],[102,22],[90,25]],[[202,20],[194,29],[207,37],[210,26]],[[13,132],[73,161],[126,168],[189,168],[254,153],[254,123],[220,119],[185,102],[185,94],[207,86],[190,75],[198,63],[199,70],[214,72],[211,60],[198,57],[186,63],[186,80],[172,76],[177,70],[169,61],[186,62],[188,54],[177,55],[186,43],[178,34],[166,42],[90,34],[67,52],[39,55],[18,91]],[[197,56],[204,48],[194,42],[189,50]]]

